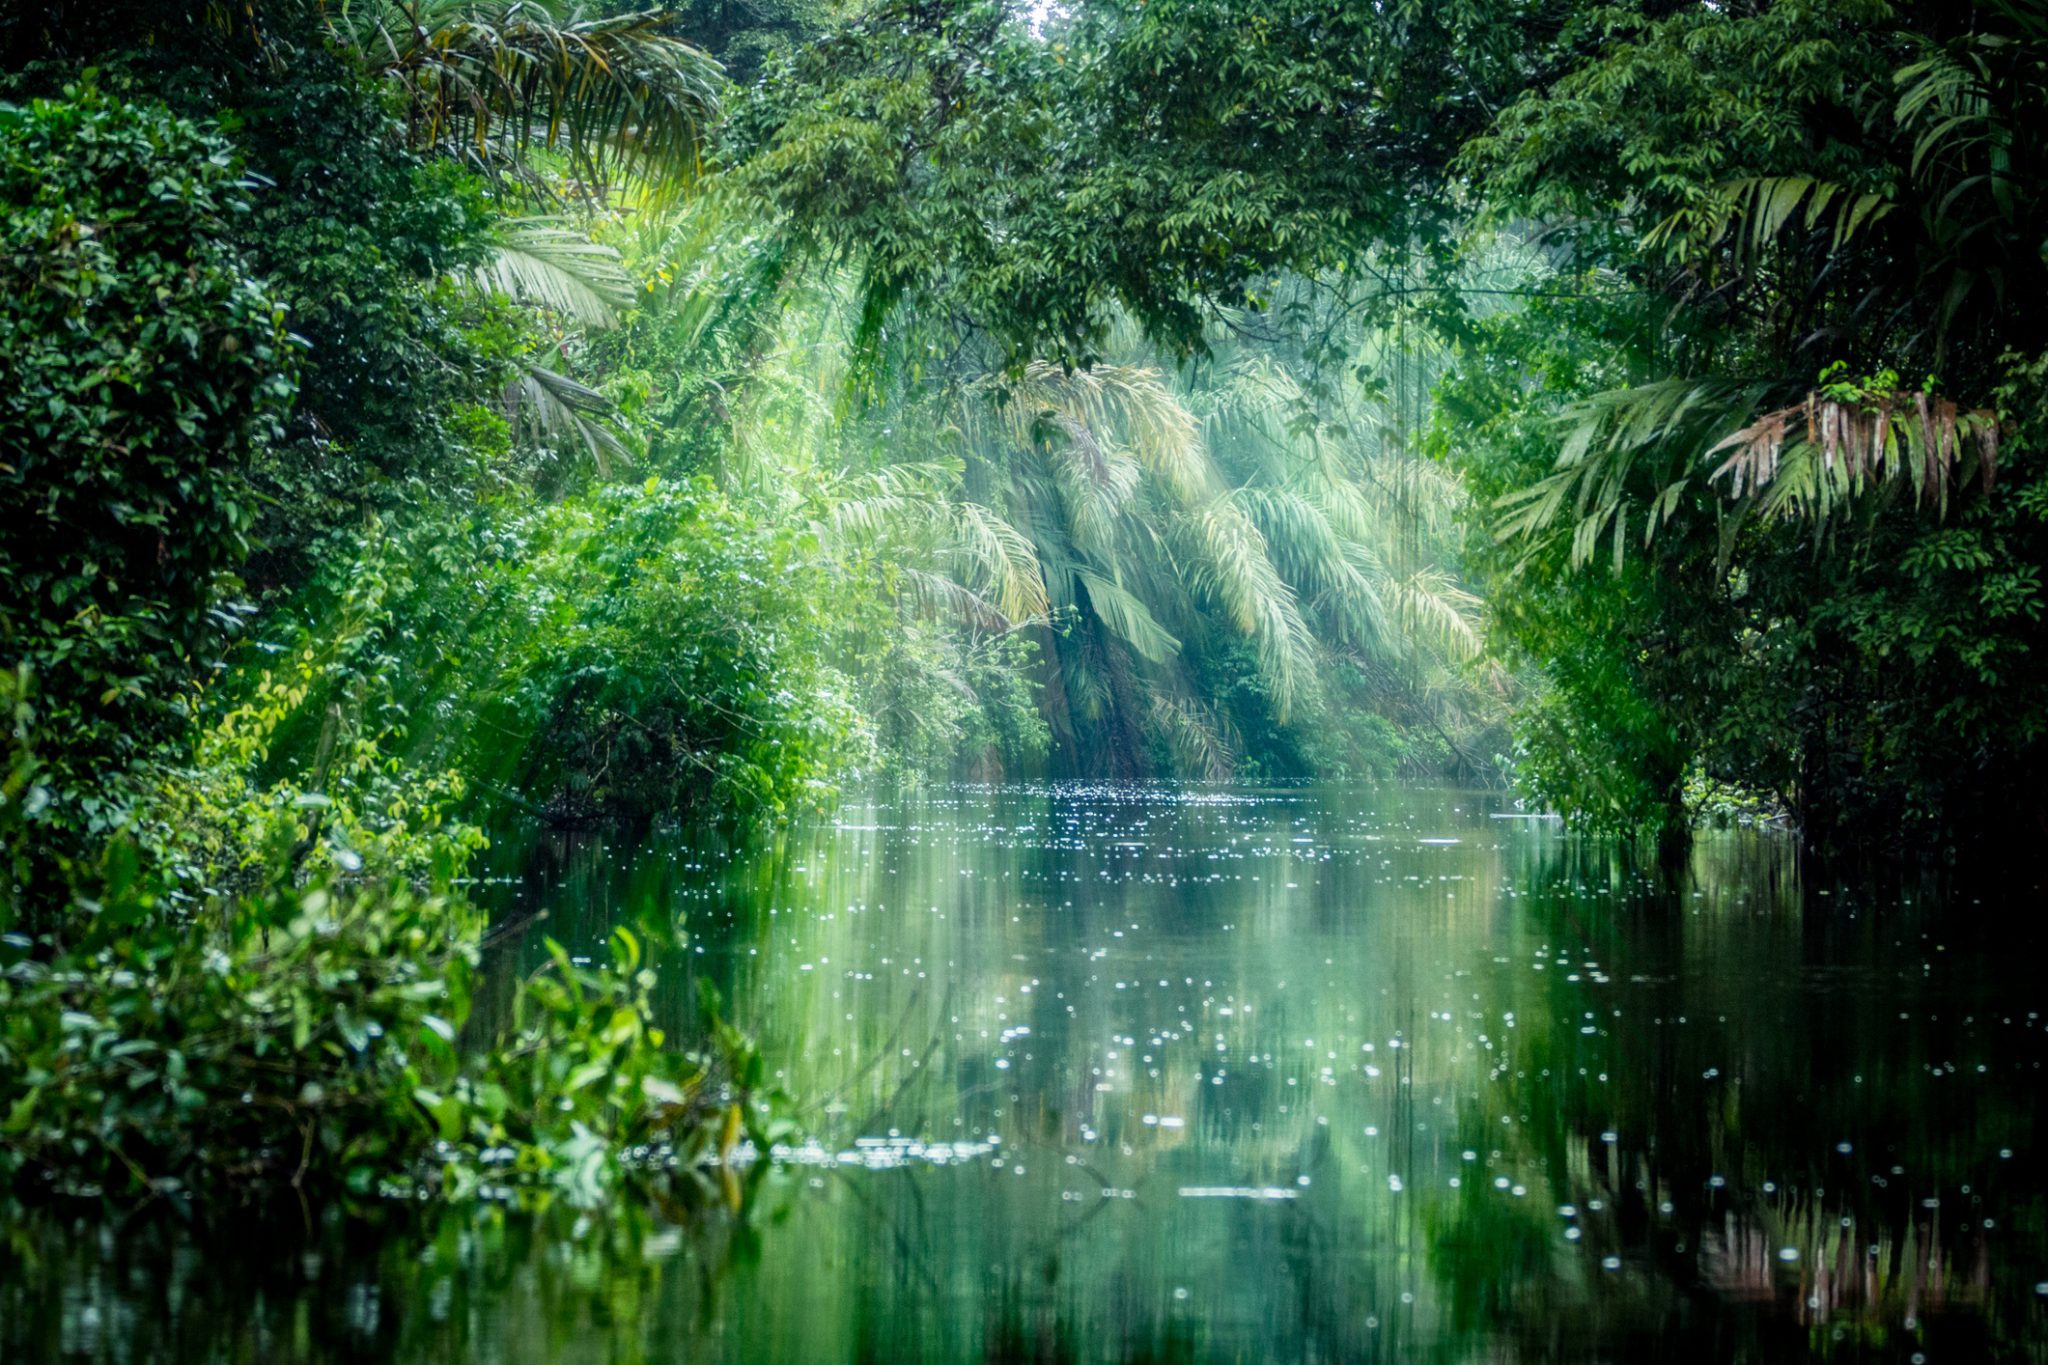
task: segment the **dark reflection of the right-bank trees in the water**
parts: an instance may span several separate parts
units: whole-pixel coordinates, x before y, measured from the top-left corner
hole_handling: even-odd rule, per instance
[[[1602,849],[1536,860],[1522,880],[1552,956],[1499,974],[1513,1046],[1460,1119],[1499,1152],[1487,1175],[1511,1171],[1528,1195],[1477,1179],[1432,1214],[1432,1271],[1462,1330],[1528,1355],[1620,1332],[1702,1359],[1898,1332],[1966,1355],[2032,1340],[2030,1275],[1999,1271],[1982,1191],[2038,1101],[2028,1085],[1944,1081],[1997,1040],[1958,1027],[1968,1007],[1921,972],[1886,970],[1909,931],[1825,902],[1802,913],[1790,849],[1747,839],[1704,841],[1677,882]],[[1622,960],[1640,990],[1583,966]],[[2019,984],[1976,980],[1960,999],[1993,1013],[2001,995],[2025,999]],[[2003,1207],[2034,1222],[2042,1205]]]

